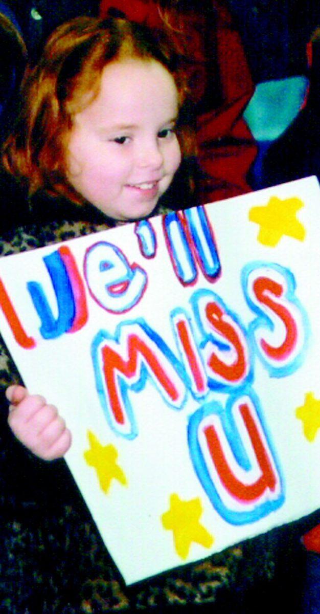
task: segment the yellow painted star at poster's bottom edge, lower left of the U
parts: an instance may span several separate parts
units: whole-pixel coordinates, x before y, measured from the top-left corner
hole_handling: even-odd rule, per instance
[[[202,511],[199,497],[182,501],[177,494],[172,494],[170,509],[161,516],[164,529],[173,532],[175,550],[181,559],[187,558],[191,542],[200,543],[205,548],[210,548],[214,542],[212,535],[199,523]]]

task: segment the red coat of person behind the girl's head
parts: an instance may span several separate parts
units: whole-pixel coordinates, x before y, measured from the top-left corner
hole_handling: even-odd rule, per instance
[[[153,0],[102,0],[101,17],[107,17],[109,9],[151,28],[164,28],[161,9]],[[256,156],[256,146],[242,114],[254,86],[229,12],[216,0],[212,0],[210,16],[201,9],[188,10],[180,14],[179,20],[183,21],[187,41],[189,85],[196,103],[198,159],[204,171],[200,201],[208,203],[251,189],[246,176]],[[171,30],[178,41],[180,35],[175,32],[177,29]]]

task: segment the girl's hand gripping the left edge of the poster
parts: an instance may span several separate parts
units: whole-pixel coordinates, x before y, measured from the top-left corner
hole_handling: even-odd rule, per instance
[[[29,394],[23,386],[9,386],[6,397],[10,402],[9,426],[21,443],[44,461],[66,454],[71,433],[54,405],[48,405],[40,395]]]

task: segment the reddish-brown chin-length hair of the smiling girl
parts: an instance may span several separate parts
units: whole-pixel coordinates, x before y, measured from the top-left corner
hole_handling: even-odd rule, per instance
[[[67,147],[75,113],[98,95],[102,70],[128,57],[156,60],[172,74],[180,107],[186,78],[177,53],[162,34],[118,18],[77,17],[49,37],[21,86],[17,123],[2,151],[6,170],[28,186],[29,196],[44,191],[82,204],[67,180]],[[188,125],[178,127],[181,150],[192,149]]]

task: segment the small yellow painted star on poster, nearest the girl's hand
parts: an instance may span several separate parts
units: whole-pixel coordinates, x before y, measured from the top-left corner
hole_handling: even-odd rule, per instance
[[[90,467],[94,467],[97,472],[100,488],[107,494],[112,480],[118,480],[126,486],[127,479],[121,467],[116,463],[118,451],[111,443],[107,446],[102,446],[91,430],[88,430],[88,440],[90,450],[87,450],[83,456],[86,463]]]

